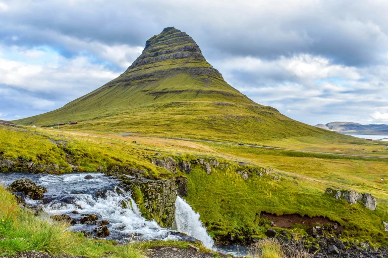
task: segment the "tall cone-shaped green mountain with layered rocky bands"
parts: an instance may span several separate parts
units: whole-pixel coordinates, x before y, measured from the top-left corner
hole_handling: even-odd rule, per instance
[[[128,69],[65,106],[23,125],[259,142],[330,134],[253,102],[228,85],[195,41],[174,27],[149,39]]]

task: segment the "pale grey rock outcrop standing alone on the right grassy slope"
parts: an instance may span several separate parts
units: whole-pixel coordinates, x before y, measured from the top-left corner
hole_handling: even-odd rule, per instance
[[[325,193],[333,195],[335,199],[344,199],[350,204],[356,204],[359,201],[362,201],[362,205],[368,208],[369,210],[376,210],[377,202],[376,198],[373,197],[370,193],[357,193],[349,190],[335,190],[333,188],[327,188]]]

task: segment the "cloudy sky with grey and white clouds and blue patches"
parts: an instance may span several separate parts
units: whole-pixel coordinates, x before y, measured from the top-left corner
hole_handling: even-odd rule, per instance
[[[174,26],[233,87],[301,122],[388,123],[387,0],[0,0],[0,119],[109,82]]]

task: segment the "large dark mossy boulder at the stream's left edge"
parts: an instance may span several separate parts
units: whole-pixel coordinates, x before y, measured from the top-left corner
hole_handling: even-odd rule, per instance
[[[28,178],[22,178],[14,181],[6,188],[6,190],[13,193],[22,193],[24,196],[33,200],[42,199],[43,193],[47,193],[47,189],[45,187],[36,185]]]

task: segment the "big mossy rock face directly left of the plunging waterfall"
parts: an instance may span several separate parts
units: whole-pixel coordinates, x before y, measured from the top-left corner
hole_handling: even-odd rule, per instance
[[[133,199],[146,219],[155,219],[162,227],[170,228],[175,219],[175,182],[166,179],[132,182]],[[136,193],[140,190],[141,195]]]

